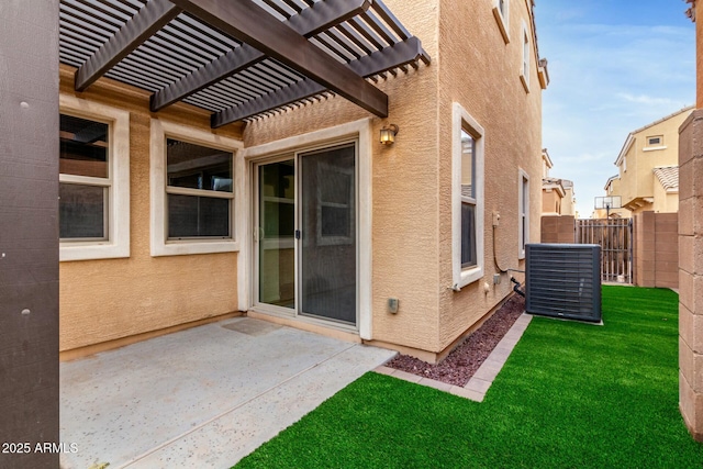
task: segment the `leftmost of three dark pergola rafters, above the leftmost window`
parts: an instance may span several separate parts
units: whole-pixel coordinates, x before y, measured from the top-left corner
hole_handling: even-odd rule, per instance
[[[127,21],[76,70],[76,91],[85,91],[98,78],[130,55],[142,43],[178,16],[181,9],[168,0],[152,0]]]

